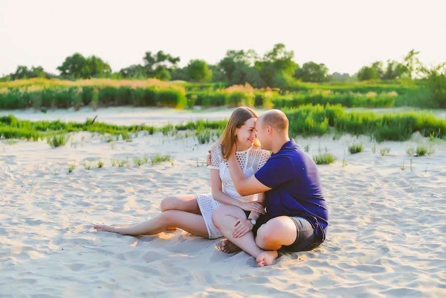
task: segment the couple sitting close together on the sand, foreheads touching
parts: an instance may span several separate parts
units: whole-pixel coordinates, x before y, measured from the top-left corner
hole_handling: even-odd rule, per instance
[[[288,137],[288,118],[282,111],[257,116],[250,108],[237,108],[211,149],[208,167],[212,194],[165,198],[159,216],[129,227],[93,227],[123,235],[179,227],[205,238],[224,236],[223,252],[242,249],[259,266],[273,265],[281,247],[310,250],[325,240],[328,211],[319,173]]]

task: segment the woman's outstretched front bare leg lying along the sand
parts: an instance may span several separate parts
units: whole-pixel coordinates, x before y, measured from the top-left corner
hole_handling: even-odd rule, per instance
[[[128,227],[116,227],[105,224],[95,224],[97,231],[115,232],[122,235],[154,235],[165,231],[168,227],[176,226],[191,234],[209,238],[208,229],[203,216],[180,211],[167,210],[161,215],[148,221],[133,224]]]

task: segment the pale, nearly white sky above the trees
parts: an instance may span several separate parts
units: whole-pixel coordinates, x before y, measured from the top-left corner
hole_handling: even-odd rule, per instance
[[[228,49],[263,56],[276,43],[295,61],[356,73],[401,61],[411,49],[427,65],[446,61],[444,0],[0,0],[0,75],[17,65],[59,74],[67,56],[96,55],[114,72],[146,51],[215,64]]]

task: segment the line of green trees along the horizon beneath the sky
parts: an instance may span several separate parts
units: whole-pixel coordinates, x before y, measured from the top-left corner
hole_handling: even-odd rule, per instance
[[[417,58],[419,52],[411,50],[402,61],[388,60],[384,65],[376,61],[370,66],[362,67],[356,74],[329,74],[323,63],[309,61],[302,66],[294,61],[294,51],[288,51],[282,43],[274,45],[263,57],[254,50],[228,50],[225,57],[212,65],[204,60],[191,60],[187,66],[178,67],[180,57],[163,51],[146,52],[143,63],[131,65],[118,72],[112,72],[110,65],[96,56],[84,57],[80,53],[69,56],[57,68],[59,75],[50,74],[42,67],[18,66],[15,73],[8,74],[1,81],[33,78],[57,77],[62,79],[79,79],[107,77],[116,79],[157,78],[160,80],[185,80],[189,82],[224,82],[227,85],[248,83],[253,87],[277,87],[287,89],[296,81],[327,82],[354,80],[393,80],[413,79],[416,73],[429,76],[432,70],[424,67]],[[437,66],[442,71],[444,65]],[[435,69],[435,68],[433,68]],[[427,75],[426,75],[427,74]],[[437,74],[439,74],[437,72]],[[440,73],[441,74],[441,73]],[[444,75],[444,73],[443,73]],[[423,75],[418,75],[423,77]]]

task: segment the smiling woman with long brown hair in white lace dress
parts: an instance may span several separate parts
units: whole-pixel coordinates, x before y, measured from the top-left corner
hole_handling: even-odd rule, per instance
[[[221,205],[233,205],[243,209],[246,216],[257,219],[265,214],[262,206],[264,193],[242,197],[234,188],[227,157],[235,143],[236,156],[246,177],[253,175],[270,157],[268,151],[260,149],[256,139],[255,121],[257,114],[250,108],[240,107],[232,112],[219,144],[211,150],[212,194],[178,195],[161,202],[161,215],[129,227],[95,224],[97,231],[115,232],[123,235],[153,235],[179,227],[191,234],[209,239],[223,235],[212,223],[214,209]],[[250,214],[252,212],[252,214]]]

